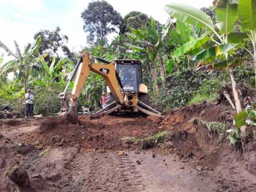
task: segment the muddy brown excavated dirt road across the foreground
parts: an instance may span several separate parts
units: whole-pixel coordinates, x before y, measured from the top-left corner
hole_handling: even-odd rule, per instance
[[[241,154],[192,121],[230,125],[232,113],[227,106],[200,104],[162,120],[2,120],[0,192],[256,192],[255,137]],[[168,133],[164,139],[152,137],[162,132]]]

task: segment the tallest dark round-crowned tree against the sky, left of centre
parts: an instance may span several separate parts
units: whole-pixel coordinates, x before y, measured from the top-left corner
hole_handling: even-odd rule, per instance
[[[90,2],[81,17],[84,31],[89,32],[87,42],[102,46],[107,43],[107,35],[116,32],[122,20],[120,13],[104,0]]]

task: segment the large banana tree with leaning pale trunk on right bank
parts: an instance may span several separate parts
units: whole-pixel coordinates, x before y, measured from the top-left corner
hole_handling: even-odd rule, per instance
[[[197,28],[204,28],[206,31],[212,33],[212,35],[209,37],[211,38],[210,40],[214,42],[214,46],[192,55],[192,59],[207,60],[208,62],[213,62],[213,68],[218,66],[218,69],[222,68],[228,70],[232,82],[232,90],[235,98],[236,110],[237,113],[239,113],[242,111],[242,106],[239,100],[238,90],[232,71],[232,66],[237,64],[237,62],[232,63],[233,60],[228,60],[228,52],[232,52],[232,50],[234,50],[234,48],[239,45],[239,43],[228,43],[228,35],[233,31],[235,22],[237,21],[238,17],[236,2],[236,0],[218,1],[218,6],[216,8],[216,20],[218,23],[216,26],[218,27],[220,33],[215,29],[213,26],[213,21],[206,13],[192,6],[171,2],[165,6],[165,10],[168,14],[171,15],[171,17],[175,17],[182,22],[192,24]],[[195,50],[200,46],[201,43],[204,43],[206,40],[207,39],[202,40],[200,38],[196,41],[192,40],[188,42],[187,45],[183,45],[182,50],[177,52],[182,54],[189,54],[191,50]],[[222,60],[223,58],[225,58],[225,60]],[[221,59],[221,61],[214,62],[215,59]],[[244,129],[242,131],[244,131]]]

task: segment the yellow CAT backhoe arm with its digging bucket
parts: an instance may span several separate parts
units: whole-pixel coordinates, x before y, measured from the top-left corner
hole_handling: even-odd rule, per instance
[[[102,63],[95,63],[93,60],[98,60]],[[71,93],[67,93],[69,83],[66,86],[64,92],[60,93],[61,100],[61,113],[59,116],[62,116],[64,119],[70,121],[71,123],[77,123],[77,109],[76,104],[79,95],[82,92],[83,86],[85,85],[86,78],[89,76],[90,71],[93,71],[101,75],[107,86],[111,90],[111,93],[114,97],[114,100],[117,104],[123,104],[123,95],[119,87],[122,88],[122,84],[118,73],[116,73],[114,62],[108,62],[101,58],[93,58],[89,55],[88,52],[85,52],[81,55],[78,63],[69,78],[69,83],[72,81],[74,75],[76,74],[76,79],[74,87]],[[69,107],[66,106],[66,100],[69,100]]]

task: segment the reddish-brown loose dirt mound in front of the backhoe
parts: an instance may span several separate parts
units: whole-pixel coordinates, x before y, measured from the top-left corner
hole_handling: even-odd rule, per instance
[[[140,116],[78,116],[80,124],[47,118],[37,123],[38,133],[25,133],[24,142],[35,145],[79,146],[83,150],[124,149],[122,137],[148,137],[161,131],[161,123]],[[135,148],[136,146],[131,146]]]

